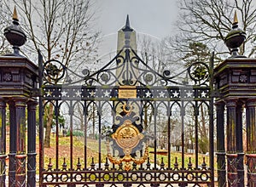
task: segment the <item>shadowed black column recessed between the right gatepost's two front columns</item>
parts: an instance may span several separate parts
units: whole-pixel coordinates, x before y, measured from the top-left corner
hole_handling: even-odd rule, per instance
[[[242,110],[243,103],[237,102],[236,105],[236,153],[237,153],[237,184],[244,186],[244,152],[242,139]]]

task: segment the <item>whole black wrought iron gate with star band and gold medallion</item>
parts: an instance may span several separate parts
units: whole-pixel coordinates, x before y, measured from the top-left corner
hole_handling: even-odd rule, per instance
[[[129,46],[95,72],[39,61],[41,186],[214,185],[212,61],[159,73]],[[44,148],[49,107],[50,150]],[[203,138],[208,156],[201,154]]]

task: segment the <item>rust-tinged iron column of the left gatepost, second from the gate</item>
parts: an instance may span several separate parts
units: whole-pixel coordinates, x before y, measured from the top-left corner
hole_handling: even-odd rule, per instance
[[[26,99],[15,99],[16,114],[16,187],[26,186]]]

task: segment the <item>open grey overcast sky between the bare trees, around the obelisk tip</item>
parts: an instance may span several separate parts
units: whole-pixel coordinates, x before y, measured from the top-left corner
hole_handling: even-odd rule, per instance
[[[177,21],[177,0],[95,0],[96,28],[102,31],[103,54],[116,50],[117,31],[125,26],[129,14],[138,35],[154,38],[170,36]]]

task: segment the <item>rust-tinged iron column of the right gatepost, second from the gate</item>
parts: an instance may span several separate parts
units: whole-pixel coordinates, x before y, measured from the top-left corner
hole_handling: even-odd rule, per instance
[[[237,176],[237,154],[236,154],[236,99],[226,100],[227,107],[227,169],[228,186],[236,187]]]

